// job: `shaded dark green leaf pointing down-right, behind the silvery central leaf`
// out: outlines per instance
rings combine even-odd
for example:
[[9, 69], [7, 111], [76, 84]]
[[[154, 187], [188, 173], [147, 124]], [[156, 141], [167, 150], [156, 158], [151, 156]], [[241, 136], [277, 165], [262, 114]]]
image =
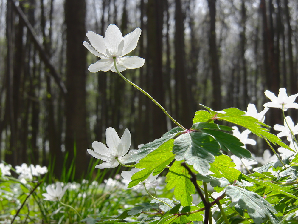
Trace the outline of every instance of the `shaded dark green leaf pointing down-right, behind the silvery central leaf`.
[[216, 130], [203, 129], [202, 131], [204, 133], [212, 135], [213, 138], [218, 141], [222, 150], [226, 152], [230, 151], [232, 154], [240, 158], [254, 161], [254, 157], [252, 157], [252, 154], [247, 149], [241, 147], [243, 146], [243, 143], [240, 142], [240, 140], [232, 134]]

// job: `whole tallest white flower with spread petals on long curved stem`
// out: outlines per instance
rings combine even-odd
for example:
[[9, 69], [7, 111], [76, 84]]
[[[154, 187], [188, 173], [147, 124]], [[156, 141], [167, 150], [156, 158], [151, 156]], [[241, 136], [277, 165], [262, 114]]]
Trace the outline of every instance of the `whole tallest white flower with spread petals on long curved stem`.
[[134, 69], [142, 67], [145, 63], [145, 59], [137, 56], [125, 56], [136, 48], [139, 41], [142, 30], [136, 28], [133, 32], [122, 37], [122, 33], [116, 25], [109, 25], [105, 31], [105, 37], [96, 34], [92, 31], [88, 31], [86, 36], [88, 37], [91, 45], [84, 41], [83, 45], [95, 56], [100, 57], [94, 64], [91, 64], [88, 68], [90, 72], [111, 70], [117, 72], [114, 66], [114, 59], [116, 57], [117, 68], [119, 72], [126, 69]]

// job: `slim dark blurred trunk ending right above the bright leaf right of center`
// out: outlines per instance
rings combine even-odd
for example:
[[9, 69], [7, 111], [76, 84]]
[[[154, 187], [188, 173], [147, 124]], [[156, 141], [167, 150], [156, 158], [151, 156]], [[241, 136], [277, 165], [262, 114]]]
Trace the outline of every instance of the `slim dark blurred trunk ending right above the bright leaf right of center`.
[[218, 49], [216, 45], [216, 0], [207, 0], [210, 17], [209, 53], [212, 71], [212, 109], [221, 110], [221, 75], [219, 69]]

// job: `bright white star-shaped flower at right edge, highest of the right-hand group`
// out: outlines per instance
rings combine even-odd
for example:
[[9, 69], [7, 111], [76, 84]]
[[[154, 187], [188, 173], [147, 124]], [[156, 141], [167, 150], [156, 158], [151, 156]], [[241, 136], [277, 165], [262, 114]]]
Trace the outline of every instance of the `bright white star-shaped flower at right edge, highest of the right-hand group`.
[[288, 97], [286, 89], [280, 88], [277, 97], [274, 95], [274, 93], [271, 93], [268, 90], [265, 91], [265, 96], [267, 96], [272, 102], [265, 103], [263, 105], [264, 107], [275, 107], [283, 109], [284, 111], [288, 110], [288, 108], [298, 109], [298, 104], [294, 103], [298, 93]]

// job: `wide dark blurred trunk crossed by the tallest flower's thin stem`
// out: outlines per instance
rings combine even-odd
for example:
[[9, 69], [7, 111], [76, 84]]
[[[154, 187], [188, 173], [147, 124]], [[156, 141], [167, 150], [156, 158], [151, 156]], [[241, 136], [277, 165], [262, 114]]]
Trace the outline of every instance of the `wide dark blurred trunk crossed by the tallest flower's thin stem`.
[[[147, 70], [152, 84], [149, 93], [165, 106], [164, 78], [162, 75], [162, 26], [163, 26], [163, 4], [159, 0], [148, 0], [147, 3], [147, 46], [148, 60]], [[166, 115], [155, 104], [150, 102], [152, 108], [152, 130], [153, 139], [161, 137], [167, 131]], [[148, 108], [146, 108], [148, 110]]]

